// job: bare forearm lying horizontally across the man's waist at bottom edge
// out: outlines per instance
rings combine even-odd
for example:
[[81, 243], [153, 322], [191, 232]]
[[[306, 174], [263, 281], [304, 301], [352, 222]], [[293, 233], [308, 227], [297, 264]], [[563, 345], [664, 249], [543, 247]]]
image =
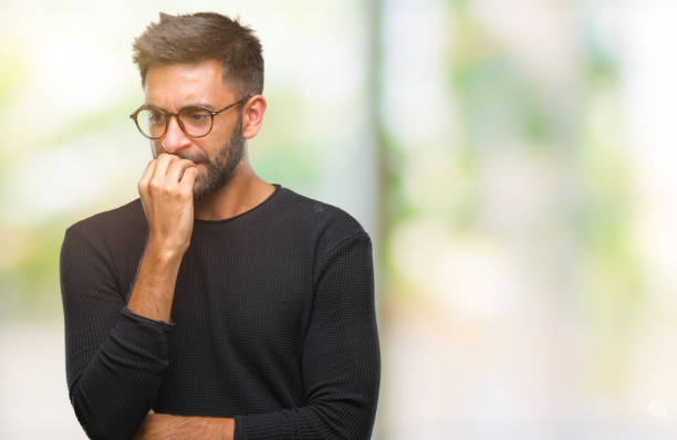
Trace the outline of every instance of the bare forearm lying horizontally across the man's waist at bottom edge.
[[149, 413], [134, 440], [232, 440], [235, 420]]

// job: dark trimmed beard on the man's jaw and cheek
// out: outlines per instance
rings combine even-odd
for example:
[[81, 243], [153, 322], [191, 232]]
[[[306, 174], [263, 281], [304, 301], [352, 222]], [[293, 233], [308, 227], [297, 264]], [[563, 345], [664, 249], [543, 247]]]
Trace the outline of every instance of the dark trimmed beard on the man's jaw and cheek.
[[195, 180], [195, 187], [192, 188], [192, 200], [199, 201], [216, 193], [221, 189], [235, 175], [242, 160], [244, 153], [244, 138], [242, 137], [242, 115], [238, 116], [238, 123], [236, 124], [230, 139], [226, 143], [217, 154], [217, 156], [209, 160], [208, 158], [195, 160], [189, 157], [184, 157], [180, 154], [177, 155], [183, 159], [189, 159], [197, 164], [202, 164], [207, 168], [206, 175], [198, 175]]

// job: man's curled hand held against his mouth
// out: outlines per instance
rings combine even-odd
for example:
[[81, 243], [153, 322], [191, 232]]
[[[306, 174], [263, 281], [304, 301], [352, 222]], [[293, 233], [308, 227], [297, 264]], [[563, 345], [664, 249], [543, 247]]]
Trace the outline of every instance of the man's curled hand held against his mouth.
[[148, 163], [138, 193], [148, 221], [148, 242], [157, 249], [184, 253], [192, 233], [195, 163], [160, 154]]

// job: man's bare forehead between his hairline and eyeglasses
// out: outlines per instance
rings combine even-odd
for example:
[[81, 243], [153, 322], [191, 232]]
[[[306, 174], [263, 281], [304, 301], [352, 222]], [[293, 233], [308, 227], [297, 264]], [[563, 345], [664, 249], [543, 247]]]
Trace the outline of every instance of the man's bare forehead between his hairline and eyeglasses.
[[144, 85], [146, 103], [168, 109], [200, 102], [220, 105], [235, 96], [222, 72], [222, 64], [216, 60], [150, 67]]

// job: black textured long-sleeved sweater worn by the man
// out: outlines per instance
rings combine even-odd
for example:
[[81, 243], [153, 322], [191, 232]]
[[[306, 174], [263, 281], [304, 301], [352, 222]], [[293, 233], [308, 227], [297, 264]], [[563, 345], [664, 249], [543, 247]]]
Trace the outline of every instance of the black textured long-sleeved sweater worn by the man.
[[139, 199], [65, 232], [66, 379], [96, 439], [149, 409], [233, 417], [236, 440], [366, 439], [379, 384], [372, 247], [351, 216], [275, 185], [196, 220], [171, 323], [126, 307], [148, 234]]

